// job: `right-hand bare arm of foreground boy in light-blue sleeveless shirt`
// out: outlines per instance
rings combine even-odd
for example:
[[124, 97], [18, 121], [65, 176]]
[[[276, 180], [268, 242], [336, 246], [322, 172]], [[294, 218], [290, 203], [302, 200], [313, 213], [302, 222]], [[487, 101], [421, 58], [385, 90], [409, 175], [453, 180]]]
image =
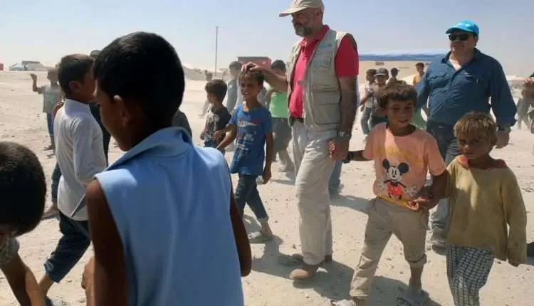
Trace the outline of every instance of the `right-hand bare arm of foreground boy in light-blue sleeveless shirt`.
[[234, 200], [234, 190], [230, 187], [230, 219], [234, 229], [234, 239], [236, 240], [237, 253], [239, 255], [239, 266], [241, 267], [241, 276], [251, 273], [252, 253], [251, 245], [246, 235], [246, 229], [241, 216], [237, 211], [236, 201]]

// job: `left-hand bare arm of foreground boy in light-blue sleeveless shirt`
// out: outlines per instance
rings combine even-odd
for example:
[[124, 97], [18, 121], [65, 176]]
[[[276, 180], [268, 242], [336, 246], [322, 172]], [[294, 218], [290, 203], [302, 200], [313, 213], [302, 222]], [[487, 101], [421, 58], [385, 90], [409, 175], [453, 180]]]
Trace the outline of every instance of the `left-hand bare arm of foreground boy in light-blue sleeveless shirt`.
[[88, 185], [85, 199], [89, 233], [95, 251], [94, 301], [91, 302], [98, 306], [126, 306], [126, 269], [122, 241], [98, 181], [92, 181]]

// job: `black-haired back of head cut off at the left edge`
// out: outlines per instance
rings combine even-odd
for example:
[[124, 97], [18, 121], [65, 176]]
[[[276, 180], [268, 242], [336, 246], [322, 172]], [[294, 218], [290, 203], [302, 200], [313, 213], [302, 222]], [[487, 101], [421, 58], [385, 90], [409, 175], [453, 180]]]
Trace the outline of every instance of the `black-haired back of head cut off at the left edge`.
[[0, 142], [0, 224], [15, 236], [36, 228], [46, 201], [46, 179], [36, 154], [15, 142]]

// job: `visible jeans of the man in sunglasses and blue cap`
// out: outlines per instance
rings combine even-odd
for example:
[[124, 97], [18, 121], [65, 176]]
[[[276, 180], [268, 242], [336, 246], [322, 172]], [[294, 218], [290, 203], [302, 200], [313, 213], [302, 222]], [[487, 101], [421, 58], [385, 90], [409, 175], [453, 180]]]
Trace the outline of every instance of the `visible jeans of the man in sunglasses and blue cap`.
[[[426, 132], [429, 132], [434, 136], [436, 142], [438, 142], [439, 153], [445, 160], [445, 164], [450, 164], [460, 155], [458, 141], [456, 140], [456, 137], [454, 137], [453, 125], [429, 121], [426, 123]], [[433, 229], [437, 228], [438, 231], [443, 231], [446, 226], [448, 215], [449, 199], [443, 199], [439, 201], [436, 211], [431, 215], [431, 227]]]

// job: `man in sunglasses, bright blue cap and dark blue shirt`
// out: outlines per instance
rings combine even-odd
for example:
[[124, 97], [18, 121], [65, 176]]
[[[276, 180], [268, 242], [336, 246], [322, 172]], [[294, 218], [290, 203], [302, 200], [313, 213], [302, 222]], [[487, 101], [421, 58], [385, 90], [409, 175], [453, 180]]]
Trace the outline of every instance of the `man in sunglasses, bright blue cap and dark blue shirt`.
[[[476, 48], [479, 30], [473, 21], [460, 21], [446, 31], [451, 51], [429, 65], [416, 86], [417, 107], [428, 101], [426, 130], [437, 142], [446, 164], [458, 156], [453, 127], [467, 112], [490, 112], [498, 125], [497, 148], [505, 147], [515, 124], [515, 102], [503, 68], [495, 58]], [[444, 247], [443, 231], [449, 202], [440, 201], [431, 216], [431, 243]]]

